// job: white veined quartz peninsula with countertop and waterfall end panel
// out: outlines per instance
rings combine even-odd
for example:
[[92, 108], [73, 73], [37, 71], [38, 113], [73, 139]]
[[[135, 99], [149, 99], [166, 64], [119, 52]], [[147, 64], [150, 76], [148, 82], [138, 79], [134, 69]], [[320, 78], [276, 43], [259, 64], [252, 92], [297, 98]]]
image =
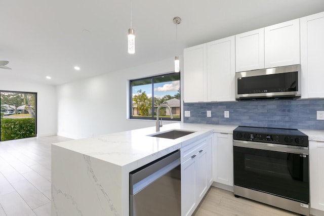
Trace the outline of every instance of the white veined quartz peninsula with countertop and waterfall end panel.
[[155, 127], [52, 145], [52, 215], [129, 215], [129, 172], [235, 126], [173, 123], [161, 132], [195, 133], [172, 140], [150, 137]]

